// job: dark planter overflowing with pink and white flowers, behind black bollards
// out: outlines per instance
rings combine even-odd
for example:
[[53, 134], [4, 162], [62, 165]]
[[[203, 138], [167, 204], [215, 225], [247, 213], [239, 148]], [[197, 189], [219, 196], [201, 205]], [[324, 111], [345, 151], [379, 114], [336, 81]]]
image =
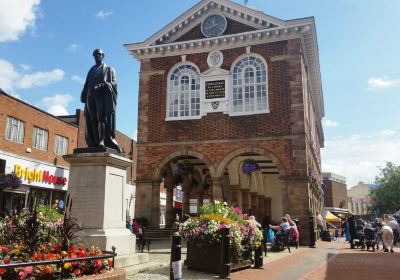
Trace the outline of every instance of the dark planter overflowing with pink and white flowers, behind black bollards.
[[257, 225], [244, 219], [239, 208], [215, 202], [200, 208], [200, 216], [180, 225], [183, 239], [188, 241], [188, 268], [218, 272], [221, 265], [221, 229], [230, 229], [231, 268], [250, 265], [251, 250], [261, 246], [263, 235]]

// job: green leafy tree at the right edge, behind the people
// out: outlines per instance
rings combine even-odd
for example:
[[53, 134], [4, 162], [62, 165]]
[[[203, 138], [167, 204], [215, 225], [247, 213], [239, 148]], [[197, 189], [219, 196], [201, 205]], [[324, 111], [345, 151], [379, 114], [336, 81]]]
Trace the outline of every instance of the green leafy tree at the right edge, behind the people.
[[378, 213], [393, 213], [400, 209], [400, 166], [387, 162], [375, 178], [378, 187], [372, 189], [371, 210]]

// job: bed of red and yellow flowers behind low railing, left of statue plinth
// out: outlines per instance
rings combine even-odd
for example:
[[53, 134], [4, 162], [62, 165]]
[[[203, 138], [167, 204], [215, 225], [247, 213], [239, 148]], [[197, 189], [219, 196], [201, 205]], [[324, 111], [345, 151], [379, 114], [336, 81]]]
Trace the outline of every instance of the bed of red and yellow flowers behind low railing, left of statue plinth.
[[52, 222], [36, 210], [0, 220], [0, 279], [68, 279], [112, 271], [114, 254], [76, 245], [78, 230], [73, 218]]

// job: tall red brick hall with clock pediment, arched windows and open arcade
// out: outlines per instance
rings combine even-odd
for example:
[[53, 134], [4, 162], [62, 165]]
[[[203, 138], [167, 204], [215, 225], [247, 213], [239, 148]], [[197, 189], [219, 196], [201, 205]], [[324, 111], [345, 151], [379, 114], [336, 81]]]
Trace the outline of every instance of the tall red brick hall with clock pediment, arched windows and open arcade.
[[[259, 221], [322, 210], [323, 94], [314, 18], [203, 0], [142, 43], [136, 214], [159, 223], [160, 183], [183, 212], [212, 200]], [[260, 170], [243, 174], [247, 160]], [[182, 170], [184, 172], [182, 172]], [[197, 203], [196, 203], [197, 202]], [[303, 231], [303, 241], [309, 232]]]

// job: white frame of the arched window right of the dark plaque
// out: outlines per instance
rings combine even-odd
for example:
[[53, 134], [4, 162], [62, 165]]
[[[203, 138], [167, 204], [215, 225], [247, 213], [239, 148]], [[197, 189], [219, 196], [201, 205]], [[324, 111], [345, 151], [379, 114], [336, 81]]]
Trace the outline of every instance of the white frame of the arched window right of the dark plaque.
[[[249, 63], [249, 58], [254, 58], [255, 63]], [[246, 61], [247, 59], [247, 61]], [[247, 70], [252, 70], [254, 77], [253, 81], [249, 81], [244, 84], [248, 79], [245, 75]], [[239, 71], [240, 70], [240, 71]], [[231, 66], [232, 81], [231, 81], [231, 94], [230, 94], [230, 113], [231, 116], [242, 116], [242, 115], [255, 115], [269, 113], [269, 98], [268, 98], [268, 64], [265, 59], [255, 53], [246, 53], [239, 56]], [[236, 75], [236, 78], [235, 78]], [[257, 77], [260, 77], [260, 81], [257, 81]], [[240, 79], [239, 79], [240, 78]], [[239, 84], [240, 83], [240, 84]], [[247, 98], [246, 102], [246, 91], [253, 89], [253, 96]], [[241, 98], [235, 96], [241, 95]], [[260, 96], [261, 95], [261, 96]], [[265, 99], [265, 107], [257, 109], [259, 99]], [[236, 101], [241, 101], [242, 109], [238, 111], [235, 105]], [[252, 106], [246, 108], [246, 106]], [[247, 109], [247, 110], [246, 110]]]

